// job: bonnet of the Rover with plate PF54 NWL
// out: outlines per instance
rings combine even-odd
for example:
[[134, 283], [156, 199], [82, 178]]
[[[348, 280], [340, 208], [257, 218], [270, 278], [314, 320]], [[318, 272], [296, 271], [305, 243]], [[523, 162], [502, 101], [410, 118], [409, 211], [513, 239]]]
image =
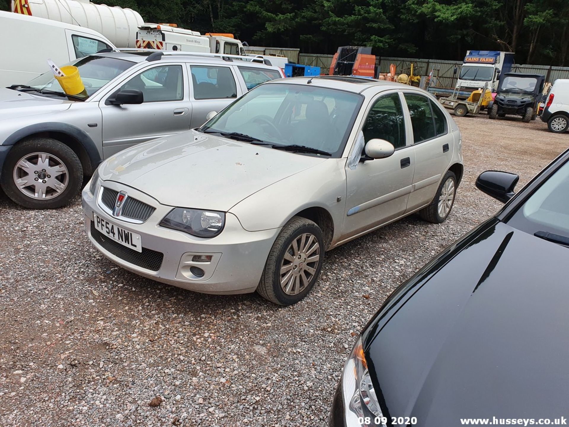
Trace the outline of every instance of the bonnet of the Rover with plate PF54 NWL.
[[168, 206], [228, 211], [254, 192], [324, 161], [192, 130], [121, 151], [99, 173]]

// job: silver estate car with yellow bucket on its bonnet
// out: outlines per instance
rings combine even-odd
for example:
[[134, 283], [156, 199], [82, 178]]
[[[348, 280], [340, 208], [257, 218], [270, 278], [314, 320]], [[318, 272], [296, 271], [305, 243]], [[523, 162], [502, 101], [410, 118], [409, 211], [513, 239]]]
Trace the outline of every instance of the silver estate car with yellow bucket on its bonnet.
[[250, 58], [191, 52], [119, 50], [71, 64], [85, 85], [77, 96], [51, 71], [0, 88], [0, 184], [27, 208], [64, 206], [101, 159], [201, 126], [211, 110], [284, 77]]

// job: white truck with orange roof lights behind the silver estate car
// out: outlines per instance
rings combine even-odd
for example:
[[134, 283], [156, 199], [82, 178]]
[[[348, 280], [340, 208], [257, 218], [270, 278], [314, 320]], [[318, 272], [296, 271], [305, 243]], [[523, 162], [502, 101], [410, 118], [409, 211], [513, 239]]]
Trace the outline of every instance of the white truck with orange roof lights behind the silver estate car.
[[244, 55], [240, 40], [233, 34], [207, 33], [178, 28], [176, 24], [144, 23], [138, 27], [137, 48], [211, 54]]

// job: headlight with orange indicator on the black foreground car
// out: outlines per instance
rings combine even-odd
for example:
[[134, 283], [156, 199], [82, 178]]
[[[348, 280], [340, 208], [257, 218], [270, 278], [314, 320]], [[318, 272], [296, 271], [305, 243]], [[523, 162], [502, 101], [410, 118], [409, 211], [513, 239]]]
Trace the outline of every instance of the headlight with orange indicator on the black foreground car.
[[342, 375], [342, 393], [346, 425], [386, 426], [387, 418], [381, 412], [380, 403], [377, 400], [361, 338], [357, 340], [345, 364]]

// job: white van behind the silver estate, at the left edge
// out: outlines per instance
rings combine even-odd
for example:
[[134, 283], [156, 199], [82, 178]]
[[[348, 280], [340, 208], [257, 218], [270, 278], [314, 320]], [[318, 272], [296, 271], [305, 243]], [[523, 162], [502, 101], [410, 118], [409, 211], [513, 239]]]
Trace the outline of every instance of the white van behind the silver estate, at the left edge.
[[0, 40], [0, 87], [24, 84], [48, 71], [48, 58], [63, 65], [114, 48], [113, 43], [89, 28], [3, 11]]

